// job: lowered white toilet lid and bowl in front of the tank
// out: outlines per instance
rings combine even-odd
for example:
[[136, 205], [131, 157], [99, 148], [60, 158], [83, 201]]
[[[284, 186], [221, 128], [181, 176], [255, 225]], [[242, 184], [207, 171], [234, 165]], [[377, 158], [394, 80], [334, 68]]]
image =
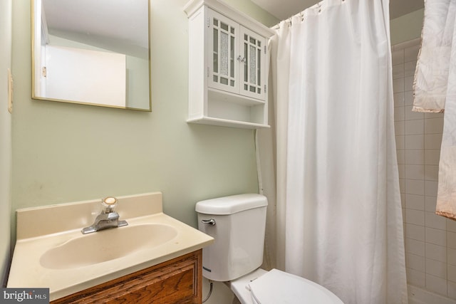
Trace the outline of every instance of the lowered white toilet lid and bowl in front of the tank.
[[[241, 285], [244, 286], [244, 290], [240, 289]], [[258, 269], [233, 281], [231, 288], [242, 303], [343, 304], [336, 295], [323, 286], [277, 269]]]

